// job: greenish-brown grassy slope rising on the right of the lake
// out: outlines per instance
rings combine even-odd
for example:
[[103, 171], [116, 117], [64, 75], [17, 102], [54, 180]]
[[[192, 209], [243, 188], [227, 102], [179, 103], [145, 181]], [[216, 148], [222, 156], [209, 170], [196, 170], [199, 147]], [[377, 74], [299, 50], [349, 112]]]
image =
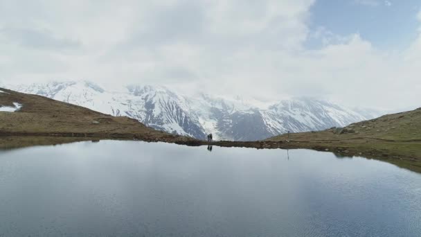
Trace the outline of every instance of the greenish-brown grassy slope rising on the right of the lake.
[[332, 150], [344, 155], [366, 155], [421, 160], [421, 108], [352, 123], [346, 128], [271, 137], [290, 146]]

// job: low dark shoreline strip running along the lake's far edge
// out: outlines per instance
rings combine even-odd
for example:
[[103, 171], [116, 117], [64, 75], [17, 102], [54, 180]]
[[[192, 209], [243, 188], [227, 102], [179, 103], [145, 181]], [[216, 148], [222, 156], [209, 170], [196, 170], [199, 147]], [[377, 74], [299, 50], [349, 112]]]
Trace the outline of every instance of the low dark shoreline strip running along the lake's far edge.
[[[348, 143], [341, 141], [201, 141], [197, 139], [186, 139], [182, 136], [147, 137], [143, 134], [98, 134], [98, 133], [0, 133], [0, 149], [13, 149], [28, 146], [46, 146], [62, 143], [72, 143], [77, 141], [100, 141], [100, 140], [120, 140], [120, 141], [145, 141], [174, 143], [183, 146], [218, 146], [222, 148], [255, 148], [255, 149], [309, 149], [320, 152], [332, 152], [337, 157], [366, 157], [387, 161], [402, 168], [407, 168], [421, 173], [421, 159], [405, 152], [400, 153], [396, 148], [407, 145], [419, 146], [420, 142], [399, 142], [382, 141], [375, 139], [352, 139]], [[393, 145], [393, 146], [392, 146]], [[382, 148], [376, 148], [382, 147]], [[383, 149], [389, 147], [391, 149]]]

